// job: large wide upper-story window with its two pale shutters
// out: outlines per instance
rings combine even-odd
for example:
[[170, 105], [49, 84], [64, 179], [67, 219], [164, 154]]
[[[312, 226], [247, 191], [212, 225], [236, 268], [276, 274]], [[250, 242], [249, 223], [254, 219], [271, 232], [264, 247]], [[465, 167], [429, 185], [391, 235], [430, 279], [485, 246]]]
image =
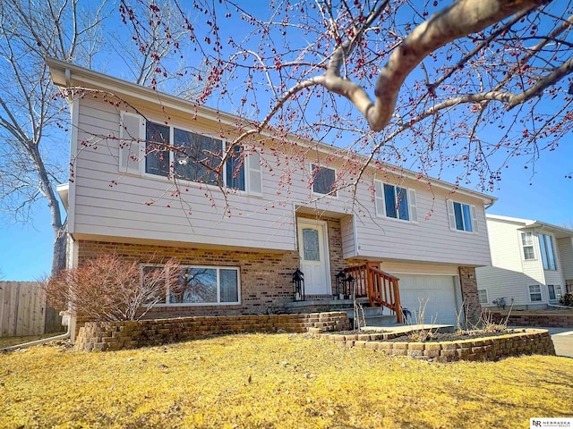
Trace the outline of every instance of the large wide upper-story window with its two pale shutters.
[[262, 195], [261, 157], [255, 151], [233, 147], [218, 174], [226, 153], [224, 140], [147, 122], [139, 114], [122, 112], [121, 117], [120, 172], [172, 176]]

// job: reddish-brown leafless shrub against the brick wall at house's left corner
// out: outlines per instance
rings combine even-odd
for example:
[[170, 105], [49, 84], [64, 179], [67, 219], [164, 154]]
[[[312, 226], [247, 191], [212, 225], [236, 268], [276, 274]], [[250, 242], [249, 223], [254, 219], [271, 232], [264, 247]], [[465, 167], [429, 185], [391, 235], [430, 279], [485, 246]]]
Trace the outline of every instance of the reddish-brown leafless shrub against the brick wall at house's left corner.
[[52, 307], [100, 322], [139, 320], [165, 299], [167, 286], [176, 288], [179, 271], [174, 259], [142, 272], [137, 262], [107, 255], [63, 270], [40, 285]]

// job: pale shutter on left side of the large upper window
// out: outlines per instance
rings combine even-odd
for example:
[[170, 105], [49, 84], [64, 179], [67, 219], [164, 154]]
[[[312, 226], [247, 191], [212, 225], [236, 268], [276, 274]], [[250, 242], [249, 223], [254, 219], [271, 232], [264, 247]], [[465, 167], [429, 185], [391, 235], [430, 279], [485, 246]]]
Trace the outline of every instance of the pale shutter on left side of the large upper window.
[[140, 161], [144, 154], [145, 122], [141, 115], [122, 112], [119, 128], [119, 171], [140, 174]]

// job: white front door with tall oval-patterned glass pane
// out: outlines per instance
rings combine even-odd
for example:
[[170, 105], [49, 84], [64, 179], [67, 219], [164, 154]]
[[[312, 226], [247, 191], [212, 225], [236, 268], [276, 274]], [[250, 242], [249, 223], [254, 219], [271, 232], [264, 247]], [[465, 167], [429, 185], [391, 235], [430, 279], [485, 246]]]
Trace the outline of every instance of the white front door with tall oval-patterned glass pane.
[[322, 221], [298, 221], [298, 249], [306, 295], [332, 294], [327, 227]]

